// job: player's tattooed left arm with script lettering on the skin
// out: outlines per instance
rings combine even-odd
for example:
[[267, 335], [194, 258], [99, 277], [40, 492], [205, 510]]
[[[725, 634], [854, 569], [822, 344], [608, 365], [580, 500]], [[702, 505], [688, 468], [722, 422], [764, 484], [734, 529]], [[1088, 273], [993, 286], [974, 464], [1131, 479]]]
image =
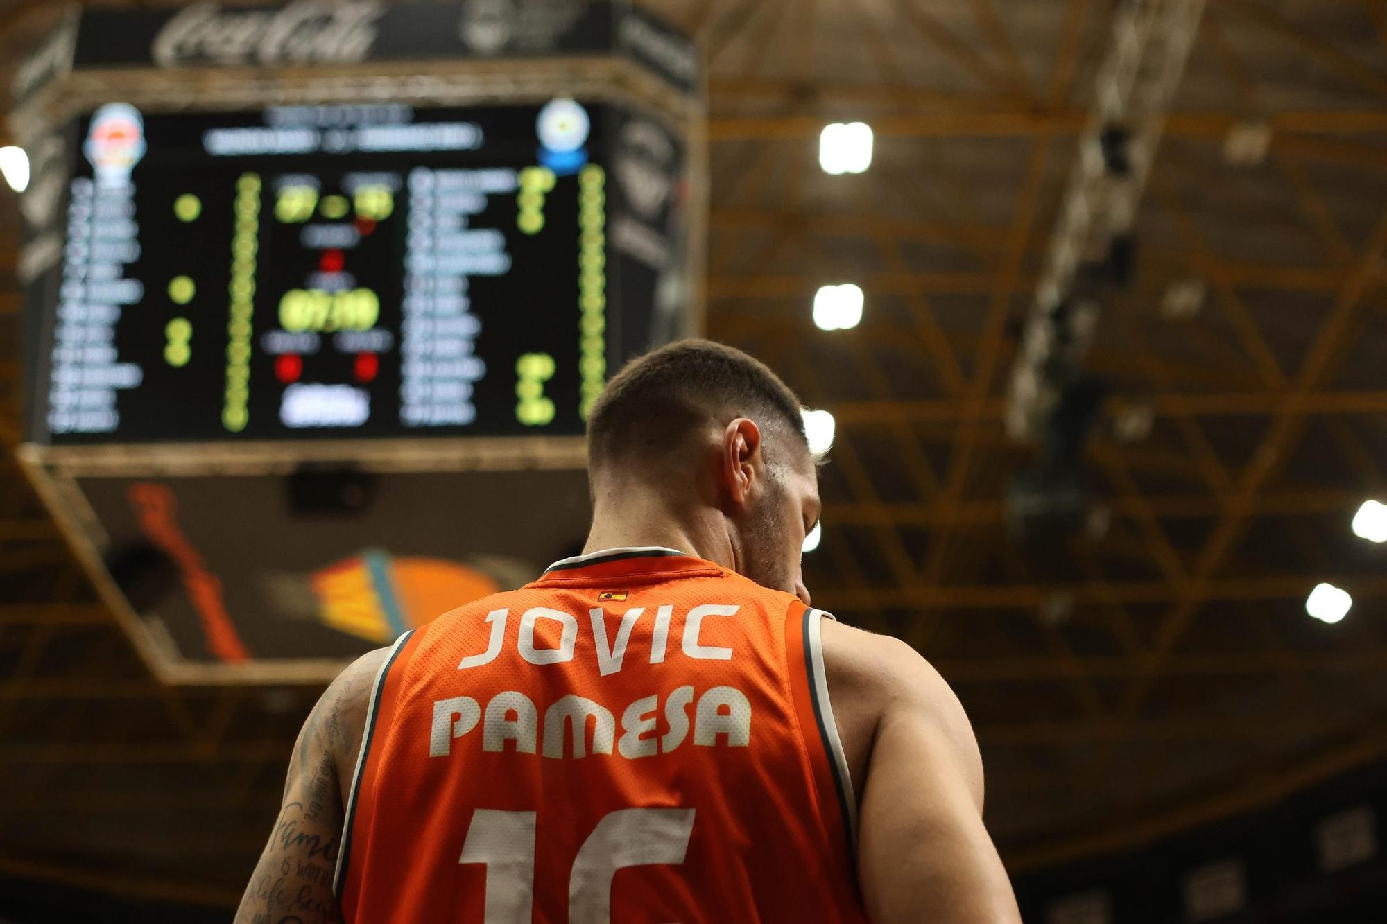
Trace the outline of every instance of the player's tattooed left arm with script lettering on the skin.
[[359, 658], [308, 713], [288, 759], [284, 801], [251, 875], [236, 924], [341, 921], [333, 870], [347, 788], [361, 749], [370, 687], [386, 649]]

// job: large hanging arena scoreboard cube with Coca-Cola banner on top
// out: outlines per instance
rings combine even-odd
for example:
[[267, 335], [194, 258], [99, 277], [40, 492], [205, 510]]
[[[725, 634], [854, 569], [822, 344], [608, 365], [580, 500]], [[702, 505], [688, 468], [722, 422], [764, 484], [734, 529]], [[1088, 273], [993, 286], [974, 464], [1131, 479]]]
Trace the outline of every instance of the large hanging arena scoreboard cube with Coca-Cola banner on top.
[[699, 61], [628, 3], [87, 10], [12, 90], [21, 458], [165, 680], [570, 552], [608, 373], [700, 327]]

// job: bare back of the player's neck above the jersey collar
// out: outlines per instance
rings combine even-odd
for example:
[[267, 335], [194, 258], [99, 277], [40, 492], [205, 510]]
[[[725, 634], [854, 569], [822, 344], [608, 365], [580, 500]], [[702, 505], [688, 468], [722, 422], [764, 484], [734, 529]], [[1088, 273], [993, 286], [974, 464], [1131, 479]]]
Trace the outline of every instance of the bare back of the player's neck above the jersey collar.
[[653, 545], [735, 567], [732, 544], [717, 511], [680, 509], [639, 487], [598, 498], [584, 555]]

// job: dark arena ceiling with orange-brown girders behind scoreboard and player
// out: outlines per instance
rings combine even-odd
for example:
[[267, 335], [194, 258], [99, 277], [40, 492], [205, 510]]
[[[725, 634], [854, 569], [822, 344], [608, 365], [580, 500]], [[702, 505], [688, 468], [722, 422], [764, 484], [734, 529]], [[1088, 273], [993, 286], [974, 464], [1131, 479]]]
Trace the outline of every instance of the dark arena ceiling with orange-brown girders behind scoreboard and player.
[[[1006, 383], [1115, 4], [652, 6], [710, 67], [709, 334], [836, 416], [816, 604], [954, 685], [1013, 867], [1387, 753], [1384, 549], [1348, 531], [1387, 493], [1387, 4], [1209, 0], [1133, 277], [1099, 293], [1090, 513], [1039, 541], [1008, 530], [1035, 450]], [[54, 7], [0, 3], [0, 61]], [[856, 119], [871, 169], [824, 175], [818, 130]], [[7, 193], [0, 874], [230, 902], [318, 691], [161, 687], [94, 602], [14, 463], [17, 241]], [[820, 332], [841, 282], [863, 323]], [[1336, 626], [1304, 612], [1323, 580], [1355, 599]]]

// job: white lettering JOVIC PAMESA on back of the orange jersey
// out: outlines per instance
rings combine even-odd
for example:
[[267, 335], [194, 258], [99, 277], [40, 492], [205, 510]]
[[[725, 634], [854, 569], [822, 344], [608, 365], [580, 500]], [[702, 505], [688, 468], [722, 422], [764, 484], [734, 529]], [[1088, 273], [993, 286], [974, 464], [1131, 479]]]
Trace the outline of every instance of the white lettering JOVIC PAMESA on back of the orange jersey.
[[[588, 623], [592, 628], [594, 647], [596, 648], [596, 667], [603, 677], [621, 670], [621, 666], [626, 663], [626, 649], [631, 641], [631, 633], [645, 615], [645, 606], [632, 606], [626, 610], [616, 637], [610, 641], [602, 608], [598, 606], [588, 610]], [[691, 608], [684, 619], [681, 644], [684, 656], [705, 660], [731, 660], [731, 648], [705, 645], [699, 641], [699, 635], [703, 620], [709, 617], [735, 616], [736, 610], [738, 606], [735, 605], [721, 604], [705, 604]], [[655, 619], [651, 628], [651, 665], [664, 662], [673, 615], [673, 605], [655, 608]], [[458, 665], [458, 670], [490, 665], [501, 655], [501, 649], [506, 641], [509, 616], [509, 609], [494, 609], [487, 615], [485, 622], [491, 624], [487, 649], [481, 653], [463, 658]], [[556, 648], [535, 648], [535, 624], [540, 620], [560, 624], [562, 631]], [[533, 606], [520, 616], [516, 653], [531, 665], [570, 662], [573, 660], [577, 635], [578, 619], [573, 613], [546, 606]], [[695, 699], [698, 702], [694, 708], [691, 723], [688, 706]], [[728, 746], [745, 748], [750, 742], [752, 705], [742, 691], [735, 687], [712, 687], [702, 694], [696, 694], [692, 685], [678, 687], [664, 699], [663, 712], [669, 731], [663, 735], [656, 735], [657, 716], [660, 713], [659, 696], [651, 695], [637, 699], [621, 710], [621, 728], [620, 735], [617, 735], [614, 713], [606, 706], [584, 696], [570, 694], [549, 703], [544, 709], [542, 723], [540, 720], [540, 709], [523, 692], [513, 690], [499, 692], [487, 702], [485, 708], [472, 696], [454, 696], [434, 702], [429, 753], [434, 758], [451, 755], [452, 742], [472, 733], [479, 723], [481, 724], [483, 751], [501, 752], [505, 749], [506, 741], [513, 741], [516, 752], [538, 752], [545, 758], [588, 756], [587, 728], [589, 720], [595, 720], [591, 753], [610, 755], [614, 748], [617, 753], [627, 759], [669, 753], [684, 744], [689, 737], [691, 728], [695, 745], [713, 746], [718, 744], [720, 738]], [[570, 728], [573, 745], [571, 748], [566, 748], [566, 738], [569, 738]]]

